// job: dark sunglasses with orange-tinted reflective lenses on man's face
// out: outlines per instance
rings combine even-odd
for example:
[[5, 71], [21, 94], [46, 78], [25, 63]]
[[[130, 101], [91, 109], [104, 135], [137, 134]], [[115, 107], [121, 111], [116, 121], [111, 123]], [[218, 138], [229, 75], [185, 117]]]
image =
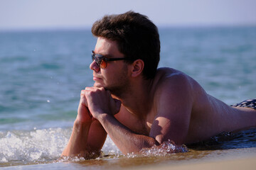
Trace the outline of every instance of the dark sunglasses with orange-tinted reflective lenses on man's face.
[[107, 62], [118, 61], [118, 60], [130, 60], [129, 58], [107, 58], [104, 55], [95, 54], [92, 51], [92, 61], [95, 61], [97, 66], [101, 69], [105, 69], [107, 67]]

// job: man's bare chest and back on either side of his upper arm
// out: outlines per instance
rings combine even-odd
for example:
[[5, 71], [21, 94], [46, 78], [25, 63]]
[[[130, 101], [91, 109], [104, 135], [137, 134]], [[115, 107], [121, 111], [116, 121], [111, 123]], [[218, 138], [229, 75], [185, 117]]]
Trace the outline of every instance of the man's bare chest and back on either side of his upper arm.
[[[154, 81], [154, 91], [157, 91], [157, 88], [161, 88], [160, 84], [162, 84], [165, 79], [171, 79], [171, 77], [179, 74], [181, 75], [183, 73], [175, 69], [159, 69], [156, 74], [156, 81]], [[251, 122], [247, 124], [247, 119], [241, 119], [240, 117], [241, 114], [248, 113], [248, 119], [250, 119], [250, 117], [255, 118], [255, 116], [252, 116], [252, 112], [255, 112], [256, 115], [256, 111], [247, 108], [232, 108], [213, 96], [206, 94], [206, 91], [204, 91], [195, 80], [187, 75], [186, 77], [191, 84], [193, 94], [193, 100], [191, 101], [193, 107], [191, 109], [189, 128], [186, 139], [184, 140], [186, 143], [207, 140], [209, 137], [218, 135], [223, 131], [239, 130], [245, 128], [246, 125], [253, 125], [254, 120], [251, 120]], [[154, 94], [154, 96], [156, 95], [158, 94]], [[186, 98], [186, 96], [183, 97]], [[188, 103], [184, 103], [184, 105], [186, 104]], [[120, 123], [127, 126], [127, 128], [133, 132], [149, 136], [151, 125], [157, 115], [157, 107], [158, 106], [153, 104], [149, 112], [146, 113], [146, 118], [138, 118], [136, 115], [129, 113], [129, 111], [122, 106], [119, 114], [115, 117]]]

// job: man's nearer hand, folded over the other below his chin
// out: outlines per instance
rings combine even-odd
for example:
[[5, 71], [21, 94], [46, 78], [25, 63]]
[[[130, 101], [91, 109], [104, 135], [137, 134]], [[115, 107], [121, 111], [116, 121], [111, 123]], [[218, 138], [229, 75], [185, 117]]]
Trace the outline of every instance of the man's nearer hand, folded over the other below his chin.
[[94, 118], [98, 118], [102, 113], [114, 115], [119, 113], [121, 101], [112, 98], [110, 91], [103, 87], [86, 87], [85, 97], [87, 107]]

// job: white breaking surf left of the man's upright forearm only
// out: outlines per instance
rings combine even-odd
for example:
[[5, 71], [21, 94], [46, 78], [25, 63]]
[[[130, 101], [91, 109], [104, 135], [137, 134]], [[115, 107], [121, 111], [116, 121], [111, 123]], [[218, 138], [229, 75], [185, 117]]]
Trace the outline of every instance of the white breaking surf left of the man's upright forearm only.
[[56, 159], [68, 142], [68, 136], [70, 129], [62, 128], [1, 132], [0, 164], [35, 164]]

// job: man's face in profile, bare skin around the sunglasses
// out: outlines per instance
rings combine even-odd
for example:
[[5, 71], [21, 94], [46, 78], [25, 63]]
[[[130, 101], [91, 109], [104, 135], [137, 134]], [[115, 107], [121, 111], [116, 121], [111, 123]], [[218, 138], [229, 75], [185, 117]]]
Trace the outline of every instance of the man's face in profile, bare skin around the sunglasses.
[[[124, 55], [119, 52], [117, 42], [106, 38], [97, 38], [95, 54], [103, 55], [107, 58], [123, 58]], [[107, 67], [101, 69], [95, 61], [90, 64], [93, 70], [94, 86], [105, 87], [112, 94], [119, 95], [129, 84], [128, 64], [124, 60], [107, 62]]]

